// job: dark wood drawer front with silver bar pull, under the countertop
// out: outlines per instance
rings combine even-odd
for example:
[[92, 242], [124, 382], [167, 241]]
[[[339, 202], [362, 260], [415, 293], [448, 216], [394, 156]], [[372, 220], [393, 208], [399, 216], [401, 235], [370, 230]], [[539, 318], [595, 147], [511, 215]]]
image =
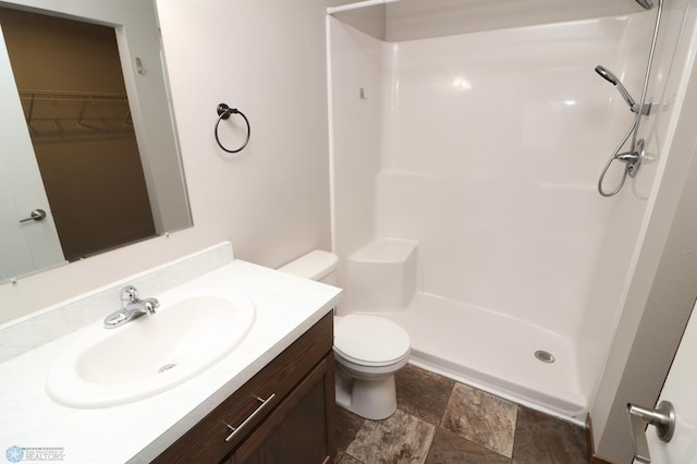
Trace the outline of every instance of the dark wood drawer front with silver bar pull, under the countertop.
[[[222, 461], [331, 351], [332, 329], [333, 316], [329, 313], [154, 462]], [[231, 439], [228, 425], [237, 429]]]

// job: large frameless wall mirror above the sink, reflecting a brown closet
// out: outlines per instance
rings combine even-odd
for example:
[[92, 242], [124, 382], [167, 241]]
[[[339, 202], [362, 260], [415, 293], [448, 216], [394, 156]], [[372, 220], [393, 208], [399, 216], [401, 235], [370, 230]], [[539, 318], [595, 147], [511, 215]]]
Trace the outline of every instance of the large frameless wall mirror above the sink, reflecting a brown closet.
[[192, 225], [154, 1], [0, 1], [0, 282]]

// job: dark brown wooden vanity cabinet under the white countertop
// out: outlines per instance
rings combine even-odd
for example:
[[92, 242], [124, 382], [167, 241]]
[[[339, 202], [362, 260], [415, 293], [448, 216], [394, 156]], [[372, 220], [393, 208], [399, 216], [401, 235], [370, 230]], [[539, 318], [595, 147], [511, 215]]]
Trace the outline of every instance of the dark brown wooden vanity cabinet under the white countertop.
[[332, 462], [337, 454], [332, 343], [329, 313], [154, 462]]

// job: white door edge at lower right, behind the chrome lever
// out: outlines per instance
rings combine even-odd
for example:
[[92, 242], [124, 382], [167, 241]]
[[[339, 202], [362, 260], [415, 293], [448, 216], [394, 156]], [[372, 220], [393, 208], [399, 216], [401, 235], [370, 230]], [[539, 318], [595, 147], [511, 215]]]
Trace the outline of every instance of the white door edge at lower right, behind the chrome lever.
[[[696, 305], [697, 307], [697, 305]], [[652, 426], [646, 430], [651, 463], [697, 464], [697, 310], [687, 322], [677, 354], [658, 401], [675, 407], [675, 429], [670, 442], [659, 440]], [[634, 461], [639, 463], [638, 460]]]

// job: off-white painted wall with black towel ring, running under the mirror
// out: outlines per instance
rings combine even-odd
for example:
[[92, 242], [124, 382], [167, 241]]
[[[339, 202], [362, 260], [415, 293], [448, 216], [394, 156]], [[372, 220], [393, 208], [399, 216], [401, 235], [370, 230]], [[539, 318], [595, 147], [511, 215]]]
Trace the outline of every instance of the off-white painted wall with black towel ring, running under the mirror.
[[[1, 285], [3, 318], [223, 240], [271, 267], [329, 248], [323, 1], [167, 0], [158, 10], [194, 227]], [[234, 159], [212, 134], [223, 101], [252, 122]], [[235, 135], [230, 125], [223, 137]]]

